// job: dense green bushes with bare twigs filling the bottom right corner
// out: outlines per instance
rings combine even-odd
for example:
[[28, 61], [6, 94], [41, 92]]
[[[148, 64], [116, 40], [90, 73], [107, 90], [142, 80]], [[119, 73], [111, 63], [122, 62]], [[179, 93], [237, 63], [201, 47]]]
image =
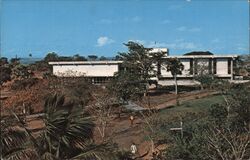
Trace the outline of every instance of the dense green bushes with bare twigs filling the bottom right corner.
[[[249, 159], [249, 95], [248, 90], [231, 90], [225, 103], [211, 106], [208, 116], [186, 121], [184, 137], [174, 136], [172, 146], [166, 149], [165, 157], [168, 159]], [[228, 110], [228, 108], [231, 109]]]

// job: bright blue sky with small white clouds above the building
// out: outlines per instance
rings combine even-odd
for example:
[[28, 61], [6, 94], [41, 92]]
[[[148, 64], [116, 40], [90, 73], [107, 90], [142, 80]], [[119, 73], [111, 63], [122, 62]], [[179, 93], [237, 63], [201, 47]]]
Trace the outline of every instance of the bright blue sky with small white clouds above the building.
[[248, 0], [0, 0], [1, 56], [115, 56], [124, 43], [249, 54]]

